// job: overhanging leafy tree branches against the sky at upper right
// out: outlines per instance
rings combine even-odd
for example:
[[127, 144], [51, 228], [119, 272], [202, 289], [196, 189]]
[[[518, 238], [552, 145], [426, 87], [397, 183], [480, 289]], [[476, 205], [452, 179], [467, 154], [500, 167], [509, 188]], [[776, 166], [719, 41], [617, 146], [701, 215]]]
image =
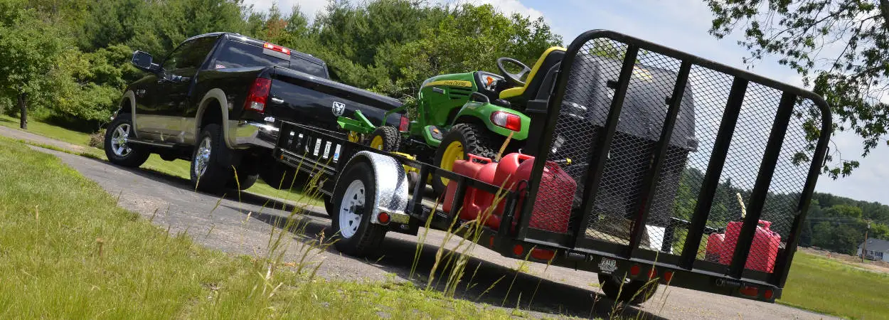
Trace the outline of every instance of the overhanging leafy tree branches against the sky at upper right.
[[[739, 32], [750, 63], [767, 55], [803, 76], [806, 86], [824, 96], [833, 128], [864, 139], [864, 152], [877, 148], [889, 133], [889, 0], [706, 0], [715, 14], [710, 34]], [[813, 120], [805, 128], [817, 133]], [[810, 134], [810, 136], [817, 136]], [[858, 162], [839, 159], [824, 172], [837, 179]]]

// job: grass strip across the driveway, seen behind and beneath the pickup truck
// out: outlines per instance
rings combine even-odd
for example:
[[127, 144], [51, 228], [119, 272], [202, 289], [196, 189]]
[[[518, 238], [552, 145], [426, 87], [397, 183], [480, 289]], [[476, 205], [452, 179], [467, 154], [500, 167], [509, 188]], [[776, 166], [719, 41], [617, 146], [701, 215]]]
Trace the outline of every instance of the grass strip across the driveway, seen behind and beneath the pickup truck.
[[[19, 128], [19, 119], [11, 117], [11, 116], [0, 115], [0, 125], [18, 129]], [[36, 134], [42, 135], [47, 138], [61, 140], [61, 141], [65, 141], [65, 142], [68, 142], [73, 145], [84, 147], [85, 148], [84, 152], [87, 155], [81, 154], [80, 156], [90, 156], [90, 157], [98, 158], [101, 160], [107, 160], [107, 158], [105, 157], [104, 151], [102, 151], [101, 149], [98, 149], [98, 148], [89, 147], [88, 142], [90, 140], [90, 136], [87, 133], [69, 130], [69, 129], [66, 129], [66, 128], [63, 128], [63, 127], [60, 127], [57, 125], [46, 124], [46, 123], [43, 123], [43, 122], [40, 122], [40, 121], [34, 120], [34, 119], [32, 119], [28, 122], [28, 132], [36, 133]], [[51, 147], [51, 146], [30, 143], [30, 142], [26, 142], [26, 143], [37, 145], [38, 147], [44, 147], [44, 148]], [[68, 152], [68, 150], [64, 150], [61, 148], [54, 148], [54, 147], [51, 147], [51, 148], [54, 150], [58, 150], [58, 151]], [[190, 179], [190, 176], [188, 173], [188, 170], [190, 170], [190, 165], [191, 164], [189, 164], [188, 161], [185, 161], [185, 160], [166, 161], [164, 159], [161, 159], [160, 156], [151, 155], [150, 157], [148, 157], [148, 161], [146, 161], [145, 164], [142, 164], [141, 167], [188, 180], [188, 179]], [[278, 190], [276, 188], [269, 187], [268, 184], [266, 184], [262, 180], [260, 180], [260, 181], [257, 181], [256, 184], [254, 184], [251, 188], [248, 188], [246, 191], [260, 195], [260, 196], [272, 196], [272, 197], [287, 199], [287, 200], [300, 199], [300, 201], [308, 202], [308, 204], [313, 204], [316, 206], [323, 206], [324, 205], [323, 202], [321, 202], [317, 199], [313, 199], [308, 196], [303, 196], [303, 193], [301, 192], [301, 186], [300, 187], [294, 186], [293, 190], [291, 190], [291, 191]]]

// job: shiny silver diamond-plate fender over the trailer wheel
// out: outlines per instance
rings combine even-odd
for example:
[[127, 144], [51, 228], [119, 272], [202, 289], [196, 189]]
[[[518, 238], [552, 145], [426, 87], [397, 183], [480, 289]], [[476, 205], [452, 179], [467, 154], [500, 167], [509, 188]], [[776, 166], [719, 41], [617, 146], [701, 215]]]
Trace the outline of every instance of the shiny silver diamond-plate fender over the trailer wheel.
[[[373, 170], [375, 195], [373, 196], [374, 204], [372, 205], [371, 223], [388, 224], [394, 222], [407, 224], [410, 221], [410, 216], [405, 213], [408, 202], [408, 183], [404, 166], [398, 163], [394, 157], [383, 156], [370, 151], [360, 151], [348, 160], [345, 167], [358, 162], [371, 164]], [[349, 182], [337, 179], [337, 185]], [[388, 223], [380, 223], [378, 219], [380, 212], [386, 212], [389, 215]]]

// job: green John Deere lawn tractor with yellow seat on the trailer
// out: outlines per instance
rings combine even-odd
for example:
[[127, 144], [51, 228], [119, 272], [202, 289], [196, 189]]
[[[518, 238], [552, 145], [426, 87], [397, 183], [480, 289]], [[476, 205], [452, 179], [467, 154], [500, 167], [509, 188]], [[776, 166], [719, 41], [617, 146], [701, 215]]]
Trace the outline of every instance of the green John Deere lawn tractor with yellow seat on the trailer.
[[[473, 71], [428, 78], [417, 95], [416, 116], [403, 118], [400, 128], [375, 126], [360, 112], [354, 118], [340, 116], [338, 122], [353, 141], [417, 155], [421, 162], [446, 170], [452, 170], [454, 161], [469, 153], [494, 158], [501, 151], [522, 148], [531, 122], [525, 108], [545, 87], [542, 84], [552, 81], [545, 79], [550, 74], [547, 71], [557, 68], [564, 56], [565, 48], [552, 47], [532, 68], [515, 59], [500, 58], [500, 75]], [[519, 71], [509, 72], [515, 69]], [[389, 114], [403, 113], [405, 108]], [[441, 177], [431, 177], [429, 182], [438, 195], [447, 185]]]

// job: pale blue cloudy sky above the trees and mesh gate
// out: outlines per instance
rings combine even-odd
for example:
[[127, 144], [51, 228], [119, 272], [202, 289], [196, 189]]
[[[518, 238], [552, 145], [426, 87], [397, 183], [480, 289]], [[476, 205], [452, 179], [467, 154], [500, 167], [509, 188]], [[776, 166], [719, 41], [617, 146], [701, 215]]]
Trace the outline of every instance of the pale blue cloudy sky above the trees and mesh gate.
[[[247, 0], [264, 10], [269, 1]], [[459, 3], [465, 0], [438, 0]], [[299, 3], [310, 16], [324, 8], [326, 0], [280, 0], [282, 8]], [[742, 62], [746, 52], [736, 44], [738, 37], [717, 40], [708, 33], [712, 19], [702, 0], [475, 0], [473, 4], [493, 4], [502, 12], [519, 12], [533, 18], [543, 17], [565, 43], [593, 28], [605, 28], [637, 36], [657, 44], [690, 52], [709, 60], [748, 68]], [[284, 9], [288, 12], [289, 9]], [[775, 80], [802, 86], [796, 73], [775, 63], [775, 58], [759, 61], [752, 72]], [[838, 150], [845, 159], [857, 159], [861, 167], [851, 177], [831, 180], [821, 176], [816, 190], [854, 199], [889, 204], [885, 181], [889, 180], [889, 148], [881, 144], [867, 158], [861, 158], [861, 139], [839, 133], [832, 137], [831, 152]]]

